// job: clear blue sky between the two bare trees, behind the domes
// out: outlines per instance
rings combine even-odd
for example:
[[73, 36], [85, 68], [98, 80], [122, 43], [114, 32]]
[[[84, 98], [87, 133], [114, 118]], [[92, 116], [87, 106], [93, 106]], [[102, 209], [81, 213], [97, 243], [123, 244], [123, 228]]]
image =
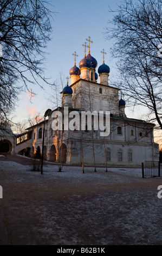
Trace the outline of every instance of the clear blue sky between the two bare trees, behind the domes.
[[[76, 66], [79, 66], [80, 60], [84, 57], [82, 44], [90, 36], [91, 40], [93, 40], [90, 54], [98, 61], [97, 70], [102, 64], [101, 51], [104, 48], [107, 52], [105, 63], [111, 69], [109, 78], [115, 76], [117, 72], [115, 61], [111, 58], [110, 54], [113, 42], [105, 39], [105, 27], [107, 27], [107, 21], [113, 17], [113, 14], [108, 11], [109, 7], [116, 9], [120, 1], [53, 0], [51, 4], [54, 5], [53, 9], [56, 13], [52, 24], [52, 39], [45, 50], [48, 52], [48, 55], [47, 61], [44, 63], [44, 68], [46, 68], [44, 75], [51, 77], [51, 80], [59, 84], [61, 73], [63, 84], [66, 86], [65, 78], [69, 76], [69, 70], [74, 66], [72, 54], [76, 51], [78, 55]], [[48, 98], [55, 97], [55, 92], [51, 91], [47, 84], [42, 83], [42, 86], [44, 90], [38, 86], [33, 88], [36, 96], [31, 101], [27, 92], [23, 92], [20, 95], [20, 100], [14, 112], [14, 121], [27, 119], [27, 116], [29, 114], [32, 116], [34, 112], [40, 112], [43, 115], [48, 108], [52, 107]]]

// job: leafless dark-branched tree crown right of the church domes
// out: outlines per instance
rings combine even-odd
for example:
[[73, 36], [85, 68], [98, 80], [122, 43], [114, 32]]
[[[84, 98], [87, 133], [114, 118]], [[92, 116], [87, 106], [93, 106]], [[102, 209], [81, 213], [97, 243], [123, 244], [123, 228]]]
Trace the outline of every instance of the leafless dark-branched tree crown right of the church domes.
[[124, 89], [127, 104], [147, 107], [150, 121], [162, 129], [162, 2], [124, 0], [113, 13], [106, 38], [114, 40], [112, 55], [118, 58], [115, 85]]

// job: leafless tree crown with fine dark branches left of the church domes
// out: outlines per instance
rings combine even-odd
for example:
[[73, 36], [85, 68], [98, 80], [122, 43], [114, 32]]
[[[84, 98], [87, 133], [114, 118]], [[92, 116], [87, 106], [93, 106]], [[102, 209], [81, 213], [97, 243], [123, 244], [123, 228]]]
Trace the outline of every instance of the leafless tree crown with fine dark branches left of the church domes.
[[[50, 83], [43, 75], [44, 48], [50, 40], [52, 12], [46, 0], [1, 0], [0, 115], [7, 118], [22, 88]], [[51, 6], [50, 6], [51, 7]], [[31, 86], [31, 88], [30, 88]]]

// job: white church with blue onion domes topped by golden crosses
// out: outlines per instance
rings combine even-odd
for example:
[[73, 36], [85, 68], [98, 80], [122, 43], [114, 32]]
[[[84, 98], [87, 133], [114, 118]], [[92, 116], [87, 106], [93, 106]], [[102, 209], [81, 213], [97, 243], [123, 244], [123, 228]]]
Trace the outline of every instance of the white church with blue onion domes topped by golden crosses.
[[[90, 43], [90, 38], [89, 38]], [[44, 159], [66, 164], [94, 164], [109, 166], [141, 166], [146, 160], [159, 161], [159, 145], [154, 143], [154, 124], [144, 120], [128, 118], [125, 114], [126, 102], [122, 99], [119, 88], [112, 87], [108, 82], [110, 68], [103, 63], [97, 68], [97, 61], [90, 55], [90, 46], [86, 56], [80, 60], [79, 67], [75, 63], [70, 69], [70, 84], [64, 87], [62, 105], [48, 111], [46, 120], [31, 126], [27, 132], [16, 136], [13, 154], [21, 150], [33, 156], [38, 147]], [[120, 95], [120, 96], [119, 96]], [[64, 109], [68, 108], [68, 122], [73, 123], [72, 129], [65, 129]], [[94, 129], [94, 118], [89, 129], [85, 122], [75, 122], [75, 113], [83, 111], [101, 112], [103, 120], [109, 112], [109, 135], [101, 136], [101, 131]], [[62, 113], [62, 130], [54, 130], [54, 120]], [[105, 120], [106, 121], [106, 120]], [[56, 123], [56, 122], [55, 122]], [[44, 129], [44, 136], [43, 136]]]

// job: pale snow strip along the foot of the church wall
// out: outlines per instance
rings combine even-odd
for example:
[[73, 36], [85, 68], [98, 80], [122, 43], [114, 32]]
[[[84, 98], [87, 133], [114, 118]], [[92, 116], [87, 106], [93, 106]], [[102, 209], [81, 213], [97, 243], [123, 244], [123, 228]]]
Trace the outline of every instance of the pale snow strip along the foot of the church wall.
[[[22, 164], [16, 162], [0, 162], [1, 169], [12, 169], [14, 172], [13, 179], [17, 179], [17, 175], [19, 175], [19, 181], [21, 182], [25, 172], [31, 176], [40, 176], [40, 172], [31, 172], [30, 166], [22, 166]], [[96, 172], [94, 172], [94, 167], [85, 167], [85, 174], [82, 172], [82, 167], [76, 166], [63, 166], [62, 171], [58, 172], [57, 165], [51, 165], [47, 162], [43, 166], [43, 174], [46, 176], [46, 179], [57, 180], [57, 179], [66, 179], [68, 182], [75, 183], [76, 182], [90, 182], [94, 184], [105, 184], [111, 182], [125, 182], [129, 177], [133, 179], [142, 177], [141, 167], [137, 168], [124, 168], [124, 167], [108, 167], [108, 171], [106, 172], [106, 167], [97, 167]], [[122, 176], [122, 174], [125, 174]], [[128, 177], [126, 177], [128, 175]], [[134, 179], [135, 181], [136, 179]], [[139, 182], [139, 180], [138, 180]]]

